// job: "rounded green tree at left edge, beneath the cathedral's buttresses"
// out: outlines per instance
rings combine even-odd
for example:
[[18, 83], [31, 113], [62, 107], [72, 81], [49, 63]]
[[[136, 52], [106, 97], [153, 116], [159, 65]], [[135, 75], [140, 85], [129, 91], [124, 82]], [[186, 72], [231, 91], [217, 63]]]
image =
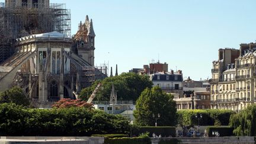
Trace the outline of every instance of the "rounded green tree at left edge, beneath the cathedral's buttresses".
[[30, 102], [19, 87], [12, 87], [0, 93], [0, 103], [15, 103], [18, 105], [28, 106]]

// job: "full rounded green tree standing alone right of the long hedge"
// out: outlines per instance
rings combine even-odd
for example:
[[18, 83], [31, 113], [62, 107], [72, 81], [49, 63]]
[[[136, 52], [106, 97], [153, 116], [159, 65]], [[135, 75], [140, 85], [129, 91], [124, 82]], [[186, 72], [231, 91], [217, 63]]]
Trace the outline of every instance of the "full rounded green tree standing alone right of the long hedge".
[[158, 126], [175, 126], [177, 123], [176, 103], [173, 96], [162, 91], [159, 87], [146, 88], [136, 101], [134, 111], [135, 123], [140, 126], [154, 126], [155, 118]]

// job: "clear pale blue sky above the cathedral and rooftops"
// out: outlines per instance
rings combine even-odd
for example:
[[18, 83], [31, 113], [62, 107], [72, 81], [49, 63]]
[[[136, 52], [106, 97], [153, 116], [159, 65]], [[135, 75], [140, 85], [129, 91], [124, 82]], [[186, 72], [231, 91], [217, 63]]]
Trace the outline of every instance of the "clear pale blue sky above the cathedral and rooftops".
[[[3, 1], [3, 0], [0, 0]], [[94, 23], [95, 65], [109, 62], [119, 73], [159, 60], [184, 78], [211, 78], [223, 47], [256, 40], [256, 1], [52, 0], [72, 13], [72, 34], [89, 15]]]

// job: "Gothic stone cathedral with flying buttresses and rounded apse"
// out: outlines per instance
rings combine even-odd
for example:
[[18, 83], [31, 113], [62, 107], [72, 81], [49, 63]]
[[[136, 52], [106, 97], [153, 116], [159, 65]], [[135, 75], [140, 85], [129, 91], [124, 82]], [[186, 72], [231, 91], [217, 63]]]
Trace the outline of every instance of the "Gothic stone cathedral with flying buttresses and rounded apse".
[[[55, 11], [49, 1], [32, 2], [21, 1], [12, 5], [12, 1], [7, 0], [5, 8], [11, 5], [16, 8], [20, 4], [19, 9], [32, 8], [34, 13], [40, 11], [40, 7]], [[4, 11], [4, 8], [1, 10]], [[53, 20], [57, 18], [53, 17]], [[16, 33], [23, 33], [12, 37], [15, 42], [9, 45], [9, 49], [13, 48], [14, 53], [0, 62], [0, 91], [17, 85], [35, 104], [47, 105], [60, 98], [78, 98], [82, 88], [107, 77], [107, 68], [98, 69], [94, 66], [95, 33], [88, 15], [72, 37], [66, 33], [68, 28], [64, 26], [56, 30], [47, 29], [40, 26], [37, 20], [32, 20], [28, 29], [16, 30]], [[1, 47], [0, 41], [1, 48], [5, 47]]]

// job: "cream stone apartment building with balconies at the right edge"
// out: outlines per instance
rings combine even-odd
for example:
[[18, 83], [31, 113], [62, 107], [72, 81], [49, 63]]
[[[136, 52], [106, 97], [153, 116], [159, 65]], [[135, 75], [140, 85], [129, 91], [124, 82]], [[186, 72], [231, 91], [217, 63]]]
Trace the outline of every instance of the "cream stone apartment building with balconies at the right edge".
[[210, 79], [211, 108], [240, 111], [255, 103], [255, 50], [256, 43], [219, 49]]

